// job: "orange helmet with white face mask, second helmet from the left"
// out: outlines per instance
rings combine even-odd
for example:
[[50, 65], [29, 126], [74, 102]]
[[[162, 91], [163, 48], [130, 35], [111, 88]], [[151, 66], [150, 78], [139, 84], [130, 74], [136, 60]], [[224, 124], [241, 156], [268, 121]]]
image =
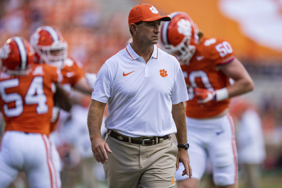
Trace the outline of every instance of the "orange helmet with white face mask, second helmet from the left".
[[30, 37], [30, 44], [35, 50], [35, 61], [62, 68], [68, 55], [68, 43], [62, 34], [51, 26], [36, 29]]

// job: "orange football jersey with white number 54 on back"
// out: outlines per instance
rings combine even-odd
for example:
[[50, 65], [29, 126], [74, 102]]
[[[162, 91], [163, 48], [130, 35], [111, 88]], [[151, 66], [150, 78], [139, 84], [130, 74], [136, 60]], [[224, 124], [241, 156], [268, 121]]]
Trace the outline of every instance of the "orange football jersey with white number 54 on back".
[[52, 83], [60, 82], [60, 70], [48, 65], [33, 66], [27, 75], [0, 72], [0, 108], [7, 130], [50, 133], [54, 105]]

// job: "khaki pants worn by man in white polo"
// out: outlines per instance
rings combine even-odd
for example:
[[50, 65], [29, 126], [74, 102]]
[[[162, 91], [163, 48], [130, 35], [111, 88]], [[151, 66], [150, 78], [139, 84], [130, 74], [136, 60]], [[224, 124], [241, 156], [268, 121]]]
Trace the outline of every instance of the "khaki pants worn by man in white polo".
[[[144, 138], [154, 137], [132, 139]], [[109, 188], [170, 188], [175, 185], [178, 149], [172, 140], [150, 146], [122, 142], [108, 134], [105, 140], [112, 150], [103, 164]]]

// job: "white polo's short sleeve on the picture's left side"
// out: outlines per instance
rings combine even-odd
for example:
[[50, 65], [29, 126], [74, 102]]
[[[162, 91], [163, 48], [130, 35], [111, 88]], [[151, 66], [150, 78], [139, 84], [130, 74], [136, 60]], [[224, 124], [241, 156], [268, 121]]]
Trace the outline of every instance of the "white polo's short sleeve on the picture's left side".
[[112, 76], [105, 63], [99, 70], [93, 84], [92, 99], [107, 103], [112, 94]]

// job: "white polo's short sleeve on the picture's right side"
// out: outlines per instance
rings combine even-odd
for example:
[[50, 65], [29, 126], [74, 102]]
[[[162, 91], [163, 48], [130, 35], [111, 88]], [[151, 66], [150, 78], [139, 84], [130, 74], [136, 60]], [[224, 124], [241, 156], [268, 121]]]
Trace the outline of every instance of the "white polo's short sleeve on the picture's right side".
[[178, 66], [177, 74], [175, 77], [175, 81], [170, 97], [173, 105], [188, 100], [188, 92], [180, 66]]

